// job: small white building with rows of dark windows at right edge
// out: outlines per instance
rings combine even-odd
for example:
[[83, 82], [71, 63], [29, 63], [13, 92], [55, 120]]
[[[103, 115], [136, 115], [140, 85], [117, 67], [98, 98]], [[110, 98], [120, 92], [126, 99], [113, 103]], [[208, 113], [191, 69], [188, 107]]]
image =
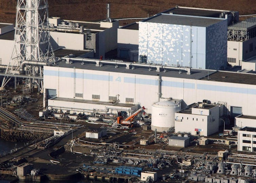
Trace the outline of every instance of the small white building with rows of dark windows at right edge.
[[256, 128], [243, 127], [238, 130], [237, 151], [256, 152]]

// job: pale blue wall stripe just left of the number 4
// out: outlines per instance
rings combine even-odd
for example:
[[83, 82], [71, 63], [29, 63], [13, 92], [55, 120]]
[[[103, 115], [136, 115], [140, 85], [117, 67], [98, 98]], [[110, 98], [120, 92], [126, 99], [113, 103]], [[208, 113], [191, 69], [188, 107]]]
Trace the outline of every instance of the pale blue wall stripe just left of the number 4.
[[[53, 71], [53, 70], [44, 70], [44, 75], [46, 76], [58, 76], [59, 77], [74, 77], [74, 72], [66, 72], [66, 71]], [[102, 74], [87, 74], [87, 73], [75, 73], [76, 78], [79, 79], [93, 79], [100, 81], [113, 81], [113, 76], [102, 75]]]

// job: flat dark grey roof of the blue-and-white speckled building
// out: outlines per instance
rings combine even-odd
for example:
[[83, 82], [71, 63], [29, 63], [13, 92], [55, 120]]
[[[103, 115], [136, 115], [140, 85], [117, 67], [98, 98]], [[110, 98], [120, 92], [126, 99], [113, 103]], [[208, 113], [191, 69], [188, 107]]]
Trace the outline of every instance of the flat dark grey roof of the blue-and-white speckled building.
[[159, 14], [155, 17], [142, 20], [141, 22], [175, 24], [175, 25], [193, 25], [199, 27], [208, 27], [215, 23], [221, 22], [223, 19], [193, 17], [184, 15]]

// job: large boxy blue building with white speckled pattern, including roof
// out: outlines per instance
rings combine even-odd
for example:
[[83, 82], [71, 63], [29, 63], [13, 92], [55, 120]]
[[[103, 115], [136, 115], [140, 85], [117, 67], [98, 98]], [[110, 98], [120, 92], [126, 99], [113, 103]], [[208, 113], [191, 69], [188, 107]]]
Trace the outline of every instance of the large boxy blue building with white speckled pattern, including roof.
[[147, 63], [221, 69], [227, 62], [227, 19], [158, 14], [139, 22], [139, 57]]

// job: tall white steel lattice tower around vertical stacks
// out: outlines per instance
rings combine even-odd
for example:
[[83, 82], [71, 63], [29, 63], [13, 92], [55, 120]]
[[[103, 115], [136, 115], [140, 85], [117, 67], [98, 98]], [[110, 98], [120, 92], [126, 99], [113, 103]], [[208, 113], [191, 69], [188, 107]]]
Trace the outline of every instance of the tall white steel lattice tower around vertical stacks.
[[[42, 76], [42, 66], [55, 61], [50, 44], [48, 0], [18, 0], [15, 27], [15, 45], [5, 73]], [[2, 87], [9, 80], [5, 76]], [[42, 82], [30, 79], [29, 83], [30, 87], [37, 84], [42, 90]]]

